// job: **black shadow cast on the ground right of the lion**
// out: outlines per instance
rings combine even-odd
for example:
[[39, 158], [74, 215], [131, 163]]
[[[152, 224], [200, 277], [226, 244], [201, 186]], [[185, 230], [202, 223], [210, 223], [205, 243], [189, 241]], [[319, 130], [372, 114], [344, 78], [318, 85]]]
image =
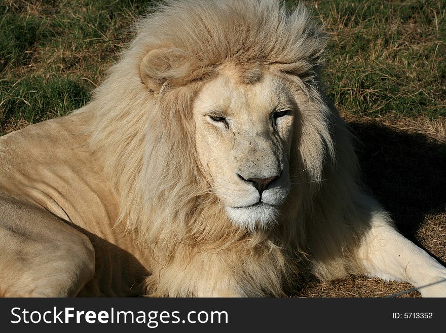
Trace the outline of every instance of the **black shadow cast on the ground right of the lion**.
[[349, 127], [358, 139], [364, 182], [400, 232], [413, 239], [426, 215], [446, 210], [446, 144], [377, 123]]

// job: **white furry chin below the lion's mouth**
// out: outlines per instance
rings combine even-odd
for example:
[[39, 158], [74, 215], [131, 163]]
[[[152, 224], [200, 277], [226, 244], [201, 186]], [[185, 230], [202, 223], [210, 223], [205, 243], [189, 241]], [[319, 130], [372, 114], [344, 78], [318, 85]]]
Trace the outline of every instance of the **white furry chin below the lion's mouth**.
[[227, 206], [226, 212], [234, 224], [249, 230], [256, 228], [268, 229], [277, 224], [279, 215], [277, 207], [266, 203], [247, 207]]

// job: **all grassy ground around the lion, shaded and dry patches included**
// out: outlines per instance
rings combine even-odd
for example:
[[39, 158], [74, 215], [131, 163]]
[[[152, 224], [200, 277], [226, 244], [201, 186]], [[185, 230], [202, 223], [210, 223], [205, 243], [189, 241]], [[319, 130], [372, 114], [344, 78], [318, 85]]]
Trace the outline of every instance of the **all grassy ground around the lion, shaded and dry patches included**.
[[[368, 186], [403, 233], [445, 261], [446, 2], [307, 3], [330, 36], [327, 94], [364, 143], [358, 155]], [[150, 4], [0, 2], [0, 135], [87, 103]], [[379, 297], [408, 288], [351, 277], [310, 282], [299, 295]]]

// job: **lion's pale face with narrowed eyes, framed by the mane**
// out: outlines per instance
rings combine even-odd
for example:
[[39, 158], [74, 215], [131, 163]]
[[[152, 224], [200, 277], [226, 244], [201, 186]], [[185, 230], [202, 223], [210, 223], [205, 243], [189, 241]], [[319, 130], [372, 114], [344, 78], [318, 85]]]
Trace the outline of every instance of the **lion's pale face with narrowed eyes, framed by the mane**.
[[242, 83], [226, 70], [194, 103], [196, 149], [231, 220], [253, 229], [275, 223], [289, 192], [296, 104], [287, 83], [266, 73]]

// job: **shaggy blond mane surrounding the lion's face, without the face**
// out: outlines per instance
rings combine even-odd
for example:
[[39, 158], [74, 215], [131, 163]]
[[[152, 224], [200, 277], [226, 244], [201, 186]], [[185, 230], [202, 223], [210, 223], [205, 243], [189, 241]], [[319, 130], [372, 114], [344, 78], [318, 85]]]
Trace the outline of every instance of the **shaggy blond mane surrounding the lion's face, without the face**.
[[[288, 13], [269, 0], [172, 0], [136, 30], [79, 112], [94, 113], [90, 145], [119, 198], [119, 223], [158, 264], [147, 292], [190, 295], [217, 267], [227, 267], [249, 295], [283, 294], [303, 267], [320, 278], [355, 271], [349, 254], [378, 206], [357, 185], [349, 134], [324, 97], [326, 36], [305, 8]], [[165, 51], [146, 71], [159, 93], [140, 73], [144, 57], [157, 50]], [[273, 71], [306, 96], [290, 157], [292, 190], [271, 230], [234, 226], [196, 155], [193, 99], [225, 63], [247, 83], [257, 70]]]

